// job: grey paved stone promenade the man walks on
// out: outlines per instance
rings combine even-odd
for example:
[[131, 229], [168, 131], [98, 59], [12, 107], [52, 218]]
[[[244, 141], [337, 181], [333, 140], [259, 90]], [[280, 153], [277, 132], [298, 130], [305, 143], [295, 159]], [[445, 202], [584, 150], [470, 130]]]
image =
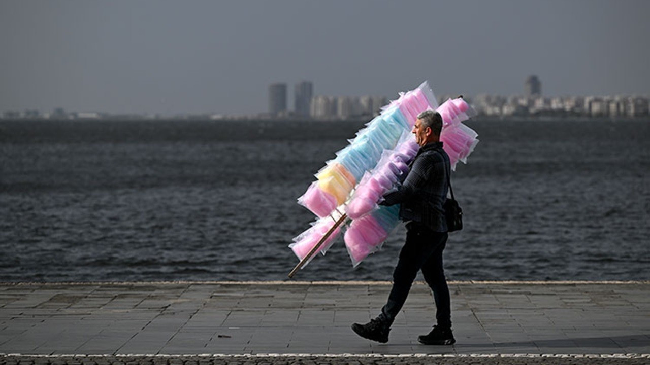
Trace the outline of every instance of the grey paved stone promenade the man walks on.
[[454, 346], [415, 283], [388, 344], [352, 322], [386, 282], [0, 284], [0, 365], [650, 364], [650, 282], [452, 282]]

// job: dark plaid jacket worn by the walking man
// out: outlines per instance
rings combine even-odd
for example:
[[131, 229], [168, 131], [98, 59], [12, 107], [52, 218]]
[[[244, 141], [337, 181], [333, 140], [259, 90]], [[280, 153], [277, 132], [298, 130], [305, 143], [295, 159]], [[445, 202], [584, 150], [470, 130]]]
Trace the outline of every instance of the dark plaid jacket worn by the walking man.
[[410, 168], [404, 183], [397, 191], [385, 195], [382, 205], [401, 203], [402, 220], [422, 223], [434, 232], [447, 232], [443, 203], [451, 169], [443, 143], [431, 142], [421, 147]]

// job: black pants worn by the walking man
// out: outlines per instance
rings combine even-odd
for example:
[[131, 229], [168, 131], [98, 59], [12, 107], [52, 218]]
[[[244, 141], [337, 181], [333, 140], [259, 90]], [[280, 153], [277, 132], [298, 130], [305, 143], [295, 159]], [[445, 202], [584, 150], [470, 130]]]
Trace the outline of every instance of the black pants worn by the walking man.
[[443, 270], [443, 250], [448, 234], [434, 232], [420, 225], [406, 225], [406, 243], [400, 251], [400, 258], [393, 272], [393, 288], [380, 318], [388, 325], [400, 312], [417, 271], [422, 270], [424, 280], [434, 292], [435, 320], [440, 327], [451, 327], [451, 302], [445, 271]]

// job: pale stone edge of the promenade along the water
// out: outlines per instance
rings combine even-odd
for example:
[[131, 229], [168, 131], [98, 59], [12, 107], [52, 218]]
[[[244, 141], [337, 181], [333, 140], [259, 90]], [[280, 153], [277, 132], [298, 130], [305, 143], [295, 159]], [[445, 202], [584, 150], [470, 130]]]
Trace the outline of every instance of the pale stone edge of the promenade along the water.
[[[19, 285], [41, 285], [41, 286], [59, 286], [59, 285], [141, 285], [141, 284], [220, 284], [220, 285], [392, 285], [392, 281], [60, 281], [60, 282], [0, 282], [0, 285], [19, 286]], [[424, 285], [424, 281], [415, 281], [414, 284]], [[558, 281], [525, 281], [525, 280], [504, 280], [504, 281], [480, 281], [480, 280], [460, 280], [448, 281], [447, 284], [526, 284], [526, 285], [567, 285], [567, 284], [650, 284], [650, 280], [631, 280], [631, 281], [580, 281], [580, 280], [558, 280]]]

